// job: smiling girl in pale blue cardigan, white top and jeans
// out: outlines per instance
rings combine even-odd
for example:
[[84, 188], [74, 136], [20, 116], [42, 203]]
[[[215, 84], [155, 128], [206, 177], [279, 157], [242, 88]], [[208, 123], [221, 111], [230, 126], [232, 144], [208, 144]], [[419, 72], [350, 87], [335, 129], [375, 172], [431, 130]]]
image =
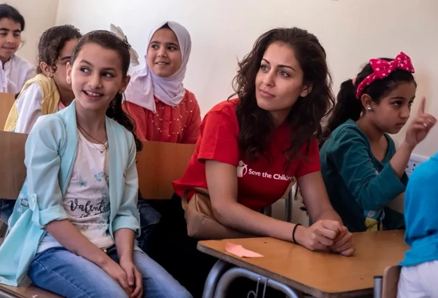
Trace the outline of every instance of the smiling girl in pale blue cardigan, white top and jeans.
[[38, 118], [27, 178], [0, 247], [0, 282], [24, 276], [63, 297], [191, 297], [136, 245], [141, 143], [123, 112], [129, 45], [93, 31], [75, 45], [75, 101]]

